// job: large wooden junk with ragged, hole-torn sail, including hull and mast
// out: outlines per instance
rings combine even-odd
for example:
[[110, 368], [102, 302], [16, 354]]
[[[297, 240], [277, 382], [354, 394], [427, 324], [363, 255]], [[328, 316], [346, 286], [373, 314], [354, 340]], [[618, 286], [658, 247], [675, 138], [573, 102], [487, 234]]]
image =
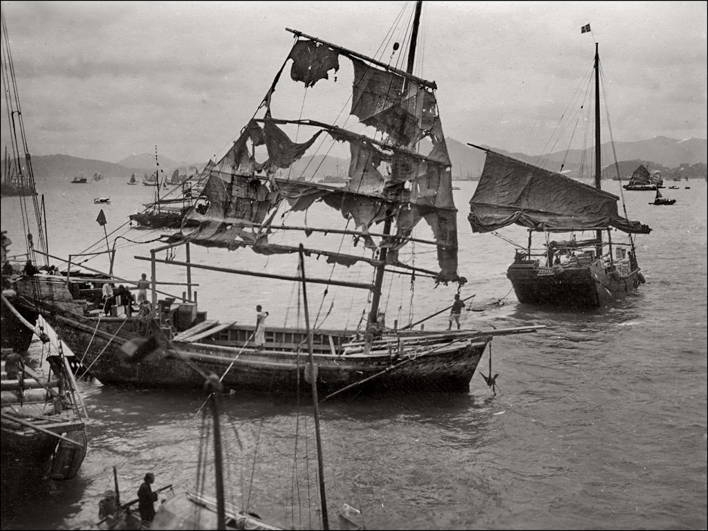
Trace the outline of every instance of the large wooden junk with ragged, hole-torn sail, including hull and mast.
[[[295, 42], [258, 107], [261, 118], [250, 120], [210, 168], [202, 191], [204, 207], [190, 210], [181, 232], [165, 236], [166, 245], [152, 249], [150, 257], [136, 257], [152, 263], [152, 304], [144, 304], [141, 312], [132, 318], [84, 314], [80, 294], [74, 298], [66, 281], [48, 276], [44, 281], [51, 286], [45, 286], [42, 293], [61, 298], [61, 307], [46, 295], [33, 296], [30, 289], [37, 286], [36, 281], [24, 290], [18, 286], [18, 297], [37, 307], [67, 341], [73, 341], [74, 350], [85, 353], [84, 365], [103, 384], [202, 387], [203, 379], [193, 370], [198, 367], [207, 374], [222, 373], [225, 387], [264, 392], [296, 392], [302, 387], [299, 382], [313, 378], [320, 389], [329, 392], [327, 396], [348, 391], [469, 392], [470, 379], [493, 336], [533, 332], [543, 326], [483, 331], [413, 331], [418, 324], [413, 322], [401, 329], [385, 326], [383, 303], [388, 286], [384, 287], [384, 278], [392, 278], [392, 273], [398, 275], [398, 282], [406, 282], [402, 291], [411, 296], [409, 282], [421, 278], [432, 281], [430, 290], [433, 283], [465, 282], [457, 273], [457, 210], [436, 86], [411, 74], [420, 9], [418, 3], [413, 32], [407, 34], [411, 47], [405, 72], [289, 30]], [[272, 98], [287, 89], [318, 93], [319, 84], [329, 79], [328, 72], [336, 71], [340, 61], [348, 62], [348, 75], [353, 76], [353, 85], [347, 85], [341, 97], [343, 101], [353, 97], [350, 113], [362, 122], [350, 127], [364, 132], [365, 126], [372, 127], [382, 139], [319, 120], [273, 117]], [[281, 74], [288, 64], [290, 79], [286, 80]], [[287, 86], [282, 88], [282, 84]], [[342, 87], [340, 81], [329, 89]], [[310, 107], [326, 112], [318, 103]], [[290, 112], [297, 115], [299, 106]], [[341, 120], [353, 122], [346, 113]], [[281, 128], [298, 126], [314, 129], [313, 133], [301, 132], [308, 138], [302, 143], [293, 142]], [[428, 142], [421, 142], [424, 139]], [[346, 186], [275, 178], [279, 169], [290, 168], [305, 154], [315, 156], [312, 151], [319, 149], [318, 140], [348, 147], [350, 181]], [[428, 152], [418, 151], [418, 144], [427, 145]], [[309, 209], [314, 209], [309, 219], [324, 220], [324, 227], [307, 225], [305, 215], [313, 212]], [[279, 214], [279, 219], [284, 215], [304, 218], [304, 224], [276, 225], [273, 219]], [[413, 237], [413, 228], [421, 219], [432, 239]], [[196, 226], [188, 229], [189, 222]], [[339, 222], [341, 228], [335, 227]], [[356, 229], [348, 227], [352, 223]], [[382, 232], [370, 231], [379, 223]], [[319, 265], [331, 273], [329, 278], [307, 278], [307, 282], [326, 285], [323, 297], [333, 290], [332, 297], [343, 301], [344, 314], [363, 325], [351, 329], [314, 326], [314, 369], [307, 371], [304, 362], [303, 346], [310, 335], [304, 327], [268, 326], [263, 343], [254, 345], [253, 325], [236, 324], [235, 319], [219, 323], [207, 319], [206, 312], [198, 312], [191, 289], [195, 270], [299, 282], [293, 258], [299, 252], [297, 244], [312, 234], [317, 241], [326, 241], [324, 248], [307, 246], [303, 253], [315, 265], [315, 258], [326, 258], [326, 264], [321, 261]], [[273, 243], [278, 235], [286, 244]], [[249, 270], [196, 263], [190, 261], [190, 246], [195, 245], [212, 249], [208, 258], [212, 264], [217, 260], [249, 265], [251, 260], [280, 260], [290, 264], [292, 274], [275, 274], [272, 269], [266, 273], [263, 265]], [[413, 248], [425, 245], [437, 252], [420, 254], [415, 265], [411, 258], [409, 263], [399, 258], [404, 251], [412, 255]], [[185, 250], [185, 261], [158, 258], [158, 253], [178, 246]], [[230, 258], [227, 250], [256, 254]], [[222, 258], [214, 258], [215, 253], [223, 253]], [[427, 265], [426, 256], [431, 264], [427, 269], [421, 267]], [[185, 268], [188, 291], [183, 297], [158, 300], [157, 263]], [[348, 272], [349, 266], [361, 268], [360, 273]], [[438, 266], [439, 270], [432, 269]], [[239, 290], [236, 282], [224, 287], [231, 286], [234, 292]], [[354, 301], [359, 308], [353, 308]], [[131, 361], [136, 359], [139, 362]]]

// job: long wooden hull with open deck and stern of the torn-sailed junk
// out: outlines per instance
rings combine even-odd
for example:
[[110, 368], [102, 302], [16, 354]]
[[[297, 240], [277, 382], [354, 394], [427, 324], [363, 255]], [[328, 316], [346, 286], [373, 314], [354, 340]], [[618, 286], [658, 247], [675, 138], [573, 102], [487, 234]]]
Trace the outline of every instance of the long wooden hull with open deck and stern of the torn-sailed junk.
[[[55, 285], [55, 295], [61, 295], [63, 285]], [[79, 304], [72, 306], [68, 292], [64, 295], [58, 304], [21, 296], [18, 304], [37, 304], [62, 340], [74, 352], [85, 353], [82, 366], [103, 384], [202, 388], [204, 375], [213, 372], [224, 375], [223, 384], [234, 390], [292, 393], [309, 388], [309, 353], [298, 349], [306, 344], [304, 330], [269, 328], [262, 349], [249, 343], [253, 326], [245, 325], [220, 327], [198, 341], [180, 340], [184, 334], [168, 339], [171, 332], [156, 321], [142, 330], [137, 316], [85, 316]], [[491, 339], [491, 334], [474, 331], [409, 332], [381, 336], [365, 352], [351, 332], [318, 332], [313, 348], [318, 387], [323, 393], [348, 386], [355, 392], [469, 392]], [[148, 352], [139, 361], [131, 355], [136, 348]]]

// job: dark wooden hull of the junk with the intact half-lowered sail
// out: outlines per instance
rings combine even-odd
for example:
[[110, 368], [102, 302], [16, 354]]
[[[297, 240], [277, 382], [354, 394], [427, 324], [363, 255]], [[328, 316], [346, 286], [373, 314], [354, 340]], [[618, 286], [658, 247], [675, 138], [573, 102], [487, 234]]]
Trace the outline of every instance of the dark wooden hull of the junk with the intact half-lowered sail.
[[523, 304], [593, 309], [633, 293], [642, 281], [639, 269], [621, 275], [600, 261], [575, 268], [546, 268], [538, 261], [513, 263], [507, 270]]

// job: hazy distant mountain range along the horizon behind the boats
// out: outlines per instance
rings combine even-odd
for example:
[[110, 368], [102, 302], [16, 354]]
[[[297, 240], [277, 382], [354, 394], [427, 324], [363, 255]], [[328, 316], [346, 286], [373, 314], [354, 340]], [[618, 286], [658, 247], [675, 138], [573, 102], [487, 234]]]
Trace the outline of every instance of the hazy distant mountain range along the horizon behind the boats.
[[[475, 180], [479, 178], [484, 167], [485, 152], [481, 149], [469, 147], [462, 142], [448, 137], [447, 149], [452, 161], [452, 178]], [[488, 146], [482, 146], [494, 149]], [[610, 144], [603, 146], [603, 152], [610, 148]], [[496, 152], [513, 156], [516, 159], [526, 161], [530, 164], [540, 164], [539, 156], [529, 156], [525, 154], [506, 152], [503, 149], [494, 149]], [[672, 173], [669, 169], [678, 169], [681, 166], [692, 166], [695, 164], [708, 163], [708, 141], [706, 139], [692, 138], [687, 140], [676, 140], [666, 137], [656, 137], [650, 140], [640, 140], [639, 142], [616, 142], [615, 151], [620, 164], [620, 176], [624, 179], [636, 169], [639, 164], [644, 164], [652, 170], [661, 170]], [[587, 149], [585, 159], [590, 160], [593, 155], [592, 149]], [[150, 174], [155, 171], [155, 155], [143, 153], [139, 155], [127, 156], [118, 163], [79, 159], [69, 155], [45, 155], [34, 156], [33, 168], [35, 178], [38, 182], [44, 180], [65, 180], [67, 183], [77, 175], [83, 174], [86, 178], [91, 178], [93, 173], [101, 173], [104, 178], [125, 179], [130, 178], [131, 173], [135, 173], [140, 179], [144, 173]], [[169, 176], [175, 169], [180, 169], [180, 173], [193, 171], [194, 167], [202, 169], [206, 161], [201, 163], [179, 163], [159, 156], [160, 169], [164, 175]], [[556, 152], [544, 157], [544, 167], [559, 171], [561, 164], [564, 164], [563, 171], [573, 176], [573, 172], [583, 161], [583, 150], [573, 149], [568, 152]], [[605, 160], [605, 164], [610, 161]], [[333, 156], [316, 155], [312, 161], [297, 161], [292, 167], [292, 175], [302, 175], [306, 179], [319, 181], [326, 176], [345, 175], [348, 171], [349, 159], [337, 159]], [[4, 168], [4, 165], [3, 165]], [[666, 173], [665, 173], [666, 172]], [[674, 171], [675, 172], [675, 171]], [[607, 178], [615, 176], [614, 164], [603, 171]]]

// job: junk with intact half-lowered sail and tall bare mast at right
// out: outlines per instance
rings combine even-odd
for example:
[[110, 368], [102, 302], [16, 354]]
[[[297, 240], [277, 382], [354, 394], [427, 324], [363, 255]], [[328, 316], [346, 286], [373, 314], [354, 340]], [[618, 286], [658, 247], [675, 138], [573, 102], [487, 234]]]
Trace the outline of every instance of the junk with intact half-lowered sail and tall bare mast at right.
[[[595, 188], [485, 149], [469, 222], [473, 232], [492, 232], [510, 224], [527, 227], [528, 245], [517, 249], [506, 272], [519, 302], [596, 308], [634, 292], [644, 282], [632, 234], [649, 234], [651, 229], [621, 217], [619, 198], [600, 189], [599, 68], [595, 45]], [[619, 174], [616, 163], [615, 168]], [[629, 241], [612, 241], [613, 228], [627, 233]], [[576, 233], [588, 231], [595, 237], [576, 239]], [[533, 232], [545, 234], [544, 249], [532, 248]], [[571, 239], [553, 239], [554, 233], [571, 233]]]

